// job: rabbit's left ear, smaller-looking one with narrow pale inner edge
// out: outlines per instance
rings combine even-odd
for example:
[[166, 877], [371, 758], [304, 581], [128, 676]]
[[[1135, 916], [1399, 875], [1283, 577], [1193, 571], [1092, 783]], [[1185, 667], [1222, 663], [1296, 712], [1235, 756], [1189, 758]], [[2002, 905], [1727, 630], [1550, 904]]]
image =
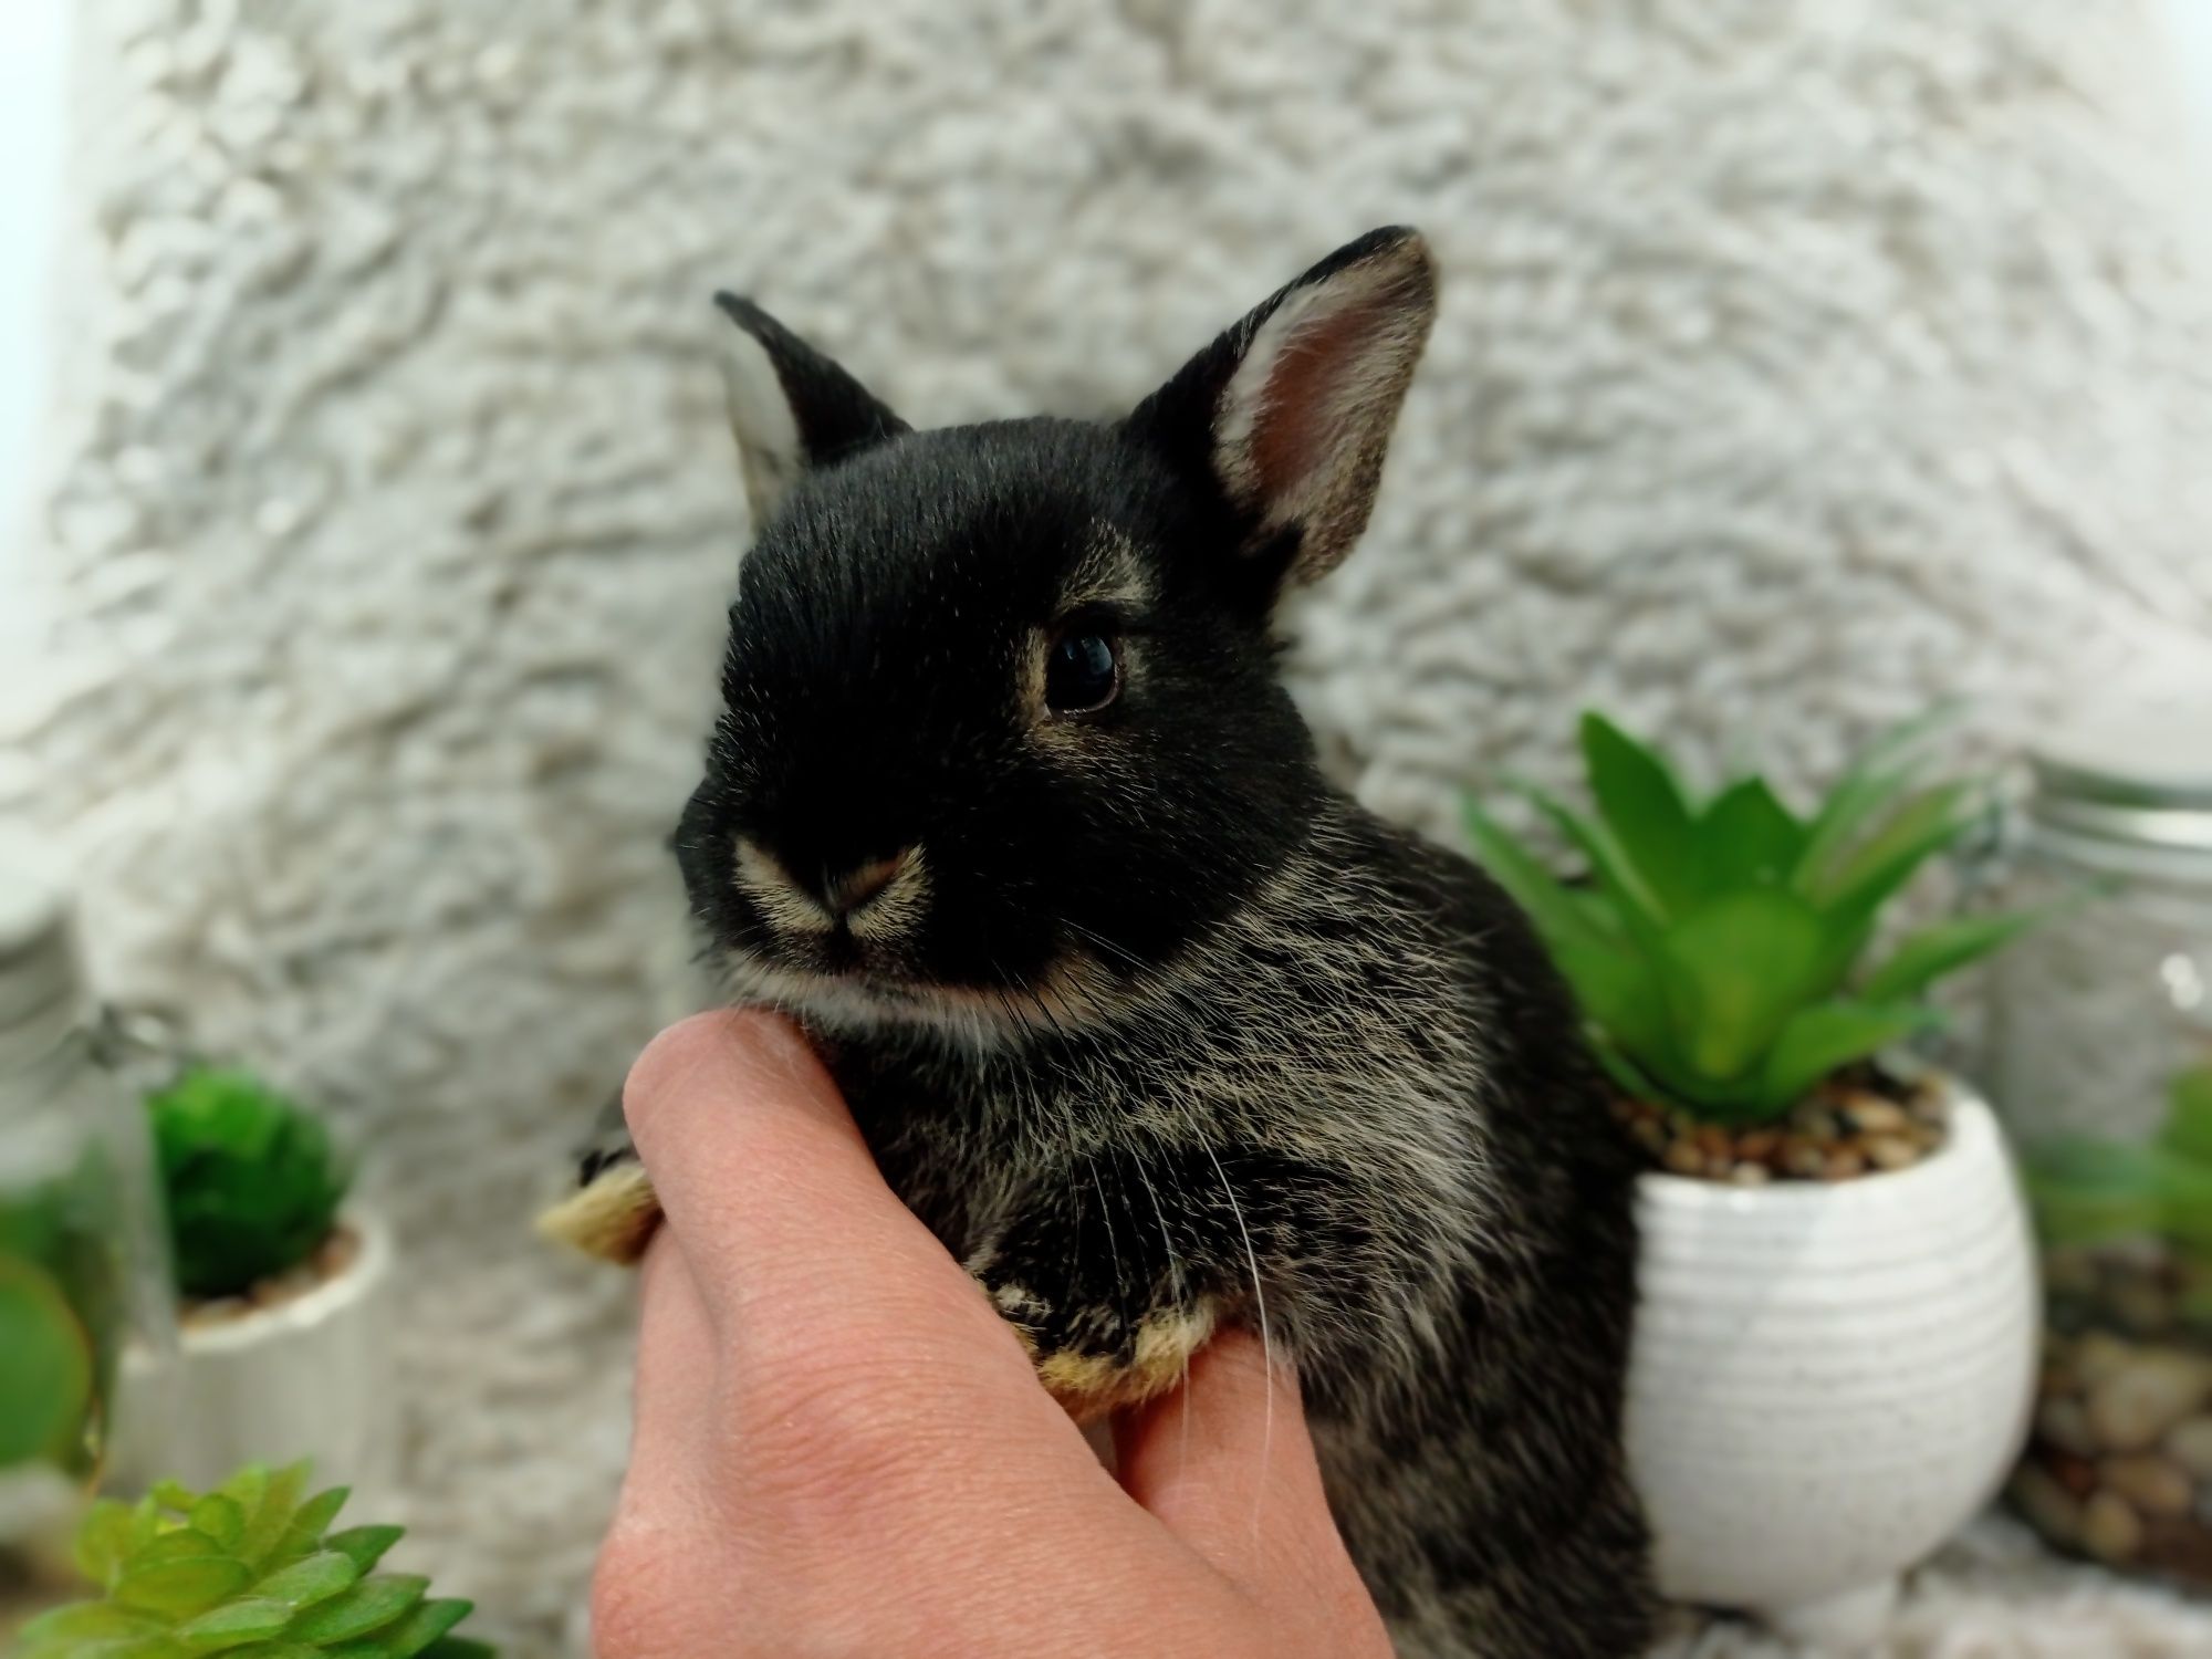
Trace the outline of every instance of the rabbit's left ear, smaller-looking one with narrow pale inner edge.
[[865, 385], [750, 299], [714, 294], [714, 303], [737, 323], [723, 334], [721, 383], [754, 524], [807, 467], [907, 431]]

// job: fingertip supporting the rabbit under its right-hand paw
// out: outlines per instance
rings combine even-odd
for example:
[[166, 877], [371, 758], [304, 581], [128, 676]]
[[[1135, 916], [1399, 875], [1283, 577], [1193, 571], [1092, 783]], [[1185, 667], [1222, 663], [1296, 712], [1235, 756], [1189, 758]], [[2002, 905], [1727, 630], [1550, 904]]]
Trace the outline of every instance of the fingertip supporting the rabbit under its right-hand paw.
[[1243, 1329], [1217, 1336], [1190, 1380], [1117, 1433], [1124, 1489], [1254, 1595], [1358, 1590], [1287, 1365]]

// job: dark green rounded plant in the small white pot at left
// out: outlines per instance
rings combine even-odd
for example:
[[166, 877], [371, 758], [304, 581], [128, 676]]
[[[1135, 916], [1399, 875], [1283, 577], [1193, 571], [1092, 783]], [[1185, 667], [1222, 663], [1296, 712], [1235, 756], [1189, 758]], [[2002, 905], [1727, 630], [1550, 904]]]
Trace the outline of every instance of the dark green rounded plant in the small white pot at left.
[[307, 1110], [217, 1066], [188, 1068], [146, 1108], [179, 1292], [237, 1296], [330, 1237], [352, 1177]]

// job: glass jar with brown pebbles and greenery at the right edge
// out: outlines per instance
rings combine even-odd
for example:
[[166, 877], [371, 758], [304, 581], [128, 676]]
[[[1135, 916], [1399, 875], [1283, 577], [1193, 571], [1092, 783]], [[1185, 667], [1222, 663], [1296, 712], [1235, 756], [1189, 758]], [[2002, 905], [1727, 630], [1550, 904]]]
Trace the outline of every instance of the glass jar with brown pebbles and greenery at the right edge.
[[2013, 1475], [2053, 1544], [2212, 1588], [2212, 714], [2031, 757], [1989, 1055], [2044, 1256]]

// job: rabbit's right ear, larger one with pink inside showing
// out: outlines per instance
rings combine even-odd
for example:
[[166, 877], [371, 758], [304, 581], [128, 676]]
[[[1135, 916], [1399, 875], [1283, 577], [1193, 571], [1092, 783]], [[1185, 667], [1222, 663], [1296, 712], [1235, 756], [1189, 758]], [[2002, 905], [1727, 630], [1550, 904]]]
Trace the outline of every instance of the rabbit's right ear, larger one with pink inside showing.
[[1418, 232], [1338, 248], [1199, 352], [1128, 429], [1203, 469], [1285, 580], [1334, 568], [1374, 509], [1383, 451], [1436, 316]]

